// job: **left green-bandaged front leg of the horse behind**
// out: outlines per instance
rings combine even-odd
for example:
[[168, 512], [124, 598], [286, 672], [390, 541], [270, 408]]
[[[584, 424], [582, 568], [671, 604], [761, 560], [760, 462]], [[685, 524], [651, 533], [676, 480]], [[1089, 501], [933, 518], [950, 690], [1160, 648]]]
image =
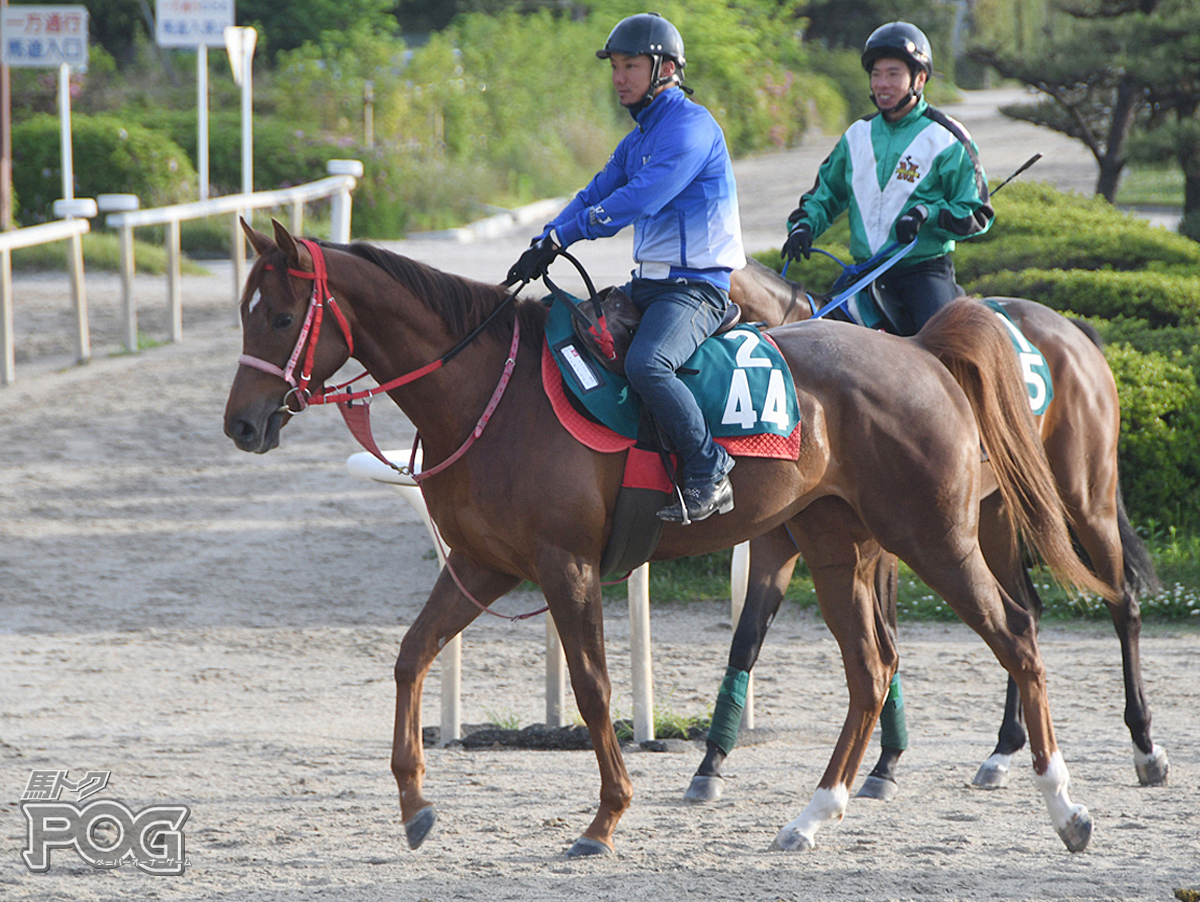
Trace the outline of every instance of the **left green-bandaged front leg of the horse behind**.
[[715, 801], [725, 790], [721, 764], [738, 741], [750, 669], [758, 660], [767, 630], [779, 612], [798, 558], [796, 542], [786, 527], [778, 527], [750, 542], [746, 600], [733, 632], [725, 679], [713, 708], [704, 759], [684, 793], [685, 801]]

